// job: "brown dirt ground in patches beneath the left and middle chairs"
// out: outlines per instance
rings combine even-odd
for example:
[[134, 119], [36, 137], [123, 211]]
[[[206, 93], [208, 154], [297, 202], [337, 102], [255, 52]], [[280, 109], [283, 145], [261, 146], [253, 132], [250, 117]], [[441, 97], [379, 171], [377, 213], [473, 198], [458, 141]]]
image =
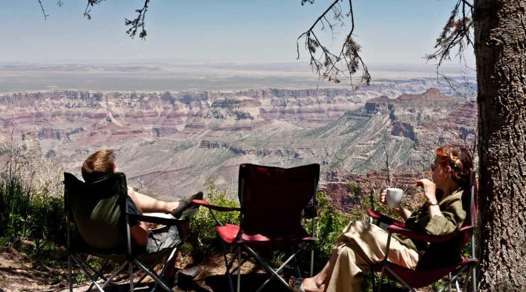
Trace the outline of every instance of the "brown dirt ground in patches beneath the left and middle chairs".
[[[2, 247], [0, 249], [0, 292], [47, 292], [47, 291], [69, 291], [67, 282], [67, 257], [64, 248], [57, 248], [56, 255], [60, 263], [59, 265], [50, 266], [38, 263], [38, 261], [31, 260], [25, 254], [18, 253], [13, 248]], [[183, 268], [188, 263], [178, 263], [178, 268]], [[191, 264], [190, 264], [191, 265]], [[180, 291], [228, 291], [228, 281], [224, 278], [225, 267], [220, 256], [206, 258], [203, 263], [197, 264], [199, 267], [199, 274], [194, 280], [181, 281], [174, 286], [175, 292]], [[242, 268], [241, 275], [241, 290], [253, 291], [268, 278], [263, 270], [251, 263], [246, 263]], [[233, 279], [234, 283], [236, 278]], [[149, 291], [153, 280], [149, 277], [145, 279], [145, 284], [140, 284], [135, 287], [136, 291]], [[89, 285], [87, 281], [82, 281], [82, 284], [74, 284], [73, 291], [81, 292], [87, 291]], [[121, 278], [117, 282], [117, 287], [127, 290], [129, 284], [126, 278]], [[236, 284], [234, 284], [236, 285]], [[94, 288], [93, 291], [97, 289]], [[110, 288], [109, 291], [117, 291], [115, 288]], [[272, 279], [270, 283], [262, 291], [285, 292], [289, 291], [284, 285], [279, 283], [276, 279]]]

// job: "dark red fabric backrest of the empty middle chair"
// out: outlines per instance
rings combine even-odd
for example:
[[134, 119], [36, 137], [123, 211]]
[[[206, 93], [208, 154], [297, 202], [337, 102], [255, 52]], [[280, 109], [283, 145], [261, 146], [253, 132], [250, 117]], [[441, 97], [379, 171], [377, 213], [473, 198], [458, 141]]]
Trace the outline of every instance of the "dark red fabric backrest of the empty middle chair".
[[320, 166], [239, 166], [241, 229], [247, 235], [283, 239], [306, 234], [301, 212], [316, 195]]

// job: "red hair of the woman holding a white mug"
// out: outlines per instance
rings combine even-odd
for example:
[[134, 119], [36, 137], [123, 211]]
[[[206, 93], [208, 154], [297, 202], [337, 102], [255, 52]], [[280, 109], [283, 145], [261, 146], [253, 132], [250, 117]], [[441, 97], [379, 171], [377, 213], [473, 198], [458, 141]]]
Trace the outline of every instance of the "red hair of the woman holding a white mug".
[[469, 185], [470, 169], [473, 159], [466, 147], [457, 144], [447, 144], [437, 148], [437, 156], [442, 167], [451, 167], [449, 177], [463, 187]]

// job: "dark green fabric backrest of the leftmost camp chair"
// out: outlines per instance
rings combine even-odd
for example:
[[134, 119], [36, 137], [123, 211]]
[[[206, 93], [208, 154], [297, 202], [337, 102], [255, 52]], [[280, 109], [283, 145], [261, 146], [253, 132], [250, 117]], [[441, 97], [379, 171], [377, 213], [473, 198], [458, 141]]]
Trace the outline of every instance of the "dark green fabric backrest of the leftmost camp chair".
[[84, 183], [64, 173], [64, 205], [69, 220], [90, 247], [126, 251], [126, 176], [110, 174]]

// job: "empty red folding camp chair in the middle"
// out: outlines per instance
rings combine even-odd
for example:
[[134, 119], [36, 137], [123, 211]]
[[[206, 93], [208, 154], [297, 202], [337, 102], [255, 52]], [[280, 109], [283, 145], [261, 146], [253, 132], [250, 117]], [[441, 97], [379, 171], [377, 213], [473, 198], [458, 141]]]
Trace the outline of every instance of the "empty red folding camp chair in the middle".
[[[237, 291], [240, 290], [242, 250], [264, 266], [270, 277], [257, 289], [261, 290], [272, 278], [277, 278], [286, 287], [289, 284], [278, 273], [290, 261], [296, 261], [296, 256], [305, 251], [309, 243], [317, 239], [307, 234], [301, 226], [301, 212], [312, 199], [310, 205], [316, 204], [316, 188], [318, 185], [320, 166], [311, 164], [294, 168], [279, 168], [259, 166], [253, 164], [242, 164], [239, 167], [239, 202], [240, 208], [228, 208], [210, 205], [203, 200], [194, 200], [202, 206], [210, 209], [210, 213], [216, 220], [216, 229], [222, 239], [225, 265], [227, 267], [230, 290], [234, 291], [231, 273], [237, 269]], [[313, 203], [313, 204], [312, 204]], [[316, 208], [316, 207], [315, 207]], [[219, 222], [213, 210], [221, 212], [239, 211], [240, 225], [223, 224]], [[311, 212], [309, 212], [311, 213]], [[309, 216], [310, 215], [310, 216]], [[305, 217], [315, 217], [315, 214], [307, 214]], [[313, 219], [314, 220], [314, 219]], [[314, 221], [312, 221], [314, 223]], [[312, 228], [314, 230], [314, 228]], [[236, 253], [231, 262], [228, 263], [225, 243], [236, 246]], [[268, 265], [257, 254], [260, 251], [285, 250], [298, 246], [292, 251], [292, 255], [276, 270]], [[311, 251], [311, 273], [313, 251]], [[230, 272], [234, 260], [238, 260], [237, 267]], [[300, 273], [296, 261], [296, 268]]]

